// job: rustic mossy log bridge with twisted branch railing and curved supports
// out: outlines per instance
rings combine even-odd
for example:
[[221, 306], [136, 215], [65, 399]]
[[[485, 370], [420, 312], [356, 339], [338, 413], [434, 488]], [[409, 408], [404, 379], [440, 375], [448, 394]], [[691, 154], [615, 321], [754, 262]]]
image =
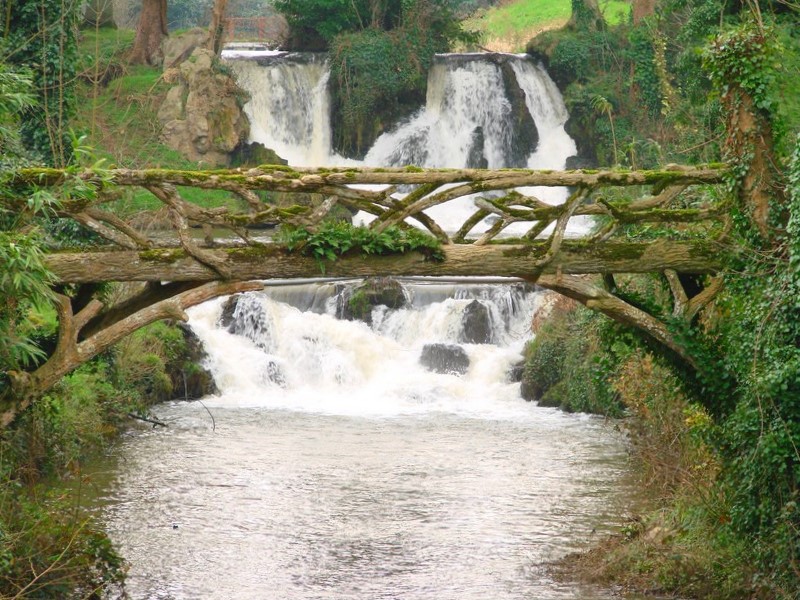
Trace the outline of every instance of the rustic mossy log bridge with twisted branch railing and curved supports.
[[[692, 366], [663, 319], [620, 297], [614, 277], [660, 274], [673, 297], [672, 317], [691, 322], [719, 291], [718, 273], [731, 251], [721, 185], [726, 175], [724, 165], [650, 171], [20, 169], [7, 177], [5, 188], [15, 193], [2, 199], [6, 208], [24, 210], [27, 194], [48, 189], [59, 199], [57, 216], [92, 231], [97, 243], [46, 255], [58, 344], [37, 370], [10, 374], [15, 400], [0, 411], [0, 426], [139, 327], [185, 320], [189, 306], [258, 289], [259, 280], [319, 276], [321, 266], [328, 277], [522, 278], [641, 329]], [[566, 200], [554, 206], [539, 199], [537, 190], [548, 187], [566, 188]], [[445, 231], [426, 212], [465, 197], [474, 209], [456, 231]], [[131, 211], [142, 202], [150, 210]], [[265, 228], [319, 231], [336, 211], [371, 215], [367, 227], [375, 233], [424, 229], [441, 244], [439, 259], [351, 250], [321, 265], [301, 249], [265, 239]], [[594, 226], [575, 235], [570, 222], [577, 217], [592, 217]], [[510, 237], [512, 225], [523, 233]], [[96, 294], [103, 282], [140, 284], [109, 305]]]

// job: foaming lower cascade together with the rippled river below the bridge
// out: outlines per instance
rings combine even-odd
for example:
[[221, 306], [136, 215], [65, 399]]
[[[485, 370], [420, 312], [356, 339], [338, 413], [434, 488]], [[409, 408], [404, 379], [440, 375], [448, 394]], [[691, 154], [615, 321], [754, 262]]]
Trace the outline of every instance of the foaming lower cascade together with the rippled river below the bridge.
[[[247, 295], [238, 333], [220, 301], [193, 309], [220, 393], [156, 407], [169, 426], [110, 457], [102, 519], [131, 598], [611, 598], [545, 565], [619, 524], [624, 440], [519, 396], [514, 322], [538, 293], [504, 289], [417, 286], [372, 327], [308, 289], [302, 310]], [[476, 297], [505, 310], [495, 341], [461, 344], [463, 375], [422, 368], [420, 339], [457, 340]]]

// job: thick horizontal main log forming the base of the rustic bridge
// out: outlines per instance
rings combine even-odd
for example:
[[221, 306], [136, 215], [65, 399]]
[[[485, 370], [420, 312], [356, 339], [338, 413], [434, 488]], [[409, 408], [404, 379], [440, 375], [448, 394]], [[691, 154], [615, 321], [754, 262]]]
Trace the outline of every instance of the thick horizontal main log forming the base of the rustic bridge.
[[[548, 249], [531, 245], [459, 245], [442, 247], [444, 260], [418, 252], [390, 256], [346, 255], [324, 263], [288, 252], [278, 245], [205, 249], [224, 265], [231, 280], [383, 276], [529, 277]], [[565, 240], [543, 266], [543, 274], [713, 273], [722, 267], [722, 248], [707, 241], [658, 240], [649, 243], [574, 243]], [[222, 276], [182, 249], [63, 252], [47, 256], [46, 265], [61, 283], [92, 281], [213, 281]]]

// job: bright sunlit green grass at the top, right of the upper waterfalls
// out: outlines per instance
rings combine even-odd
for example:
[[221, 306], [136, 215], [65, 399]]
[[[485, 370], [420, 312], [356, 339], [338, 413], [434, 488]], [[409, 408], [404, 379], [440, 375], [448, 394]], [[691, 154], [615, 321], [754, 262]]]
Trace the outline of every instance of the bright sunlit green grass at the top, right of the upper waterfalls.
[[[499, 52], [522, 52], [525, 44], [548, 29], [564, 26], [571, 14], [570, 0], [517, 0], [480, 10], [465, 21], [468, 29], [484, 34], [484, 46]], [[610, 25], [624, 21], [630, 3], [600, 0], [600, 10]]]

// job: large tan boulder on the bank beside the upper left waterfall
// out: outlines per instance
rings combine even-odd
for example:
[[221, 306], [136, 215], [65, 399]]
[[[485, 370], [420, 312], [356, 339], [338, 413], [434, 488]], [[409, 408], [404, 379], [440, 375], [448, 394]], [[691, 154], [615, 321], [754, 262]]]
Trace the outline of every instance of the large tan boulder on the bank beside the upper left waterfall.
[[158, 110], [162, 141], [191, 161], [227, 166], [250, 132], [235, 79], [219, 69], [213, 52], [197, 47], [164, 80], [173, 87]]

